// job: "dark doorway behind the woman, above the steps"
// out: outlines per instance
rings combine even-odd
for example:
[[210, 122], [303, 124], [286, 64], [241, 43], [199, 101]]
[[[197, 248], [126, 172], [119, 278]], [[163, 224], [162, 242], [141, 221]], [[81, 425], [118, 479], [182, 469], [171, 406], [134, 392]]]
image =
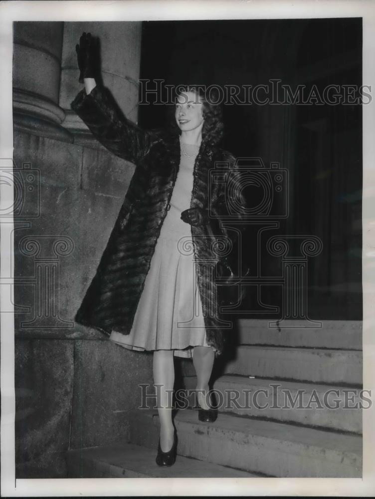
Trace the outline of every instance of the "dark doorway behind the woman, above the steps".
[[[307, 104], [224, 105], [222, 147], [288, 171], [288, 216], [269, 237], [321, 240], [321, 252], [307, 263], [309, 316], [362, 319], [362, 19], [144, 22], [141, 79], [158, 78], [170, 85], [237, 85], [239, 100], [246, 85], [279, 80], [293, 92], [304, 86]], [[139, 121], [162, 126], [167, 110], [140, 105]], [[263, 274], [281, 275], [280, 258], [262, 244]], [[259, 248], [248, 248], [255, 261]], [[248, 286], [243, 309], [277, 317], [271, 309], [256, 313], [259, 293], [263, 303], [280, 306], [280, 285]]]

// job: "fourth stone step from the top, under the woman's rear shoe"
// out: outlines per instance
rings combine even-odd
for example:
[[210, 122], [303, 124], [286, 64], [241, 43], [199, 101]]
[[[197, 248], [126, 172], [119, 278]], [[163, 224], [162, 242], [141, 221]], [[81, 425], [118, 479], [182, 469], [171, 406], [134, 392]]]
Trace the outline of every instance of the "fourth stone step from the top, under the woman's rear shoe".
[[[285, 423], [219, 414], [198, 421], [197, 411], [175, 417], [178, 453], [201, 461], [273, 477], [362, 477], [362, 438]], [[157, 411], [139, 410], [130, 421], [131, 440], [157, 448]]]

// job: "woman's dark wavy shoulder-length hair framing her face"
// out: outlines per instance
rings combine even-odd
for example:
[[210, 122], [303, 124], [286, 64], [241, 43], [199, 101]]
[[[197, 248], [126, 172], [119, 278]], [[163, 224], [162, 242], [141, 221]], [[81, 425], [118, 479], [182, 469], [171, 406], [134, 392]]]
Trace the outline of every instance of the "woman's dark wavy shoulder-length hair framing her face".
[[[210, 89], [209, 98], [200, 86], [180, 85], [178, 90], [175, 90], [175, 102], [177, 97], [184, 92], [194, 92], [201, 98], [203, 104], [203, 127], [202, 127], [202, 142], [205, 145], [216, 145], [220, 142], [224, 134], [224, 124], [222, 121], [222, 108], [218, 102], [218, 92], [214, 88]], [[217, 102], [217, 103], [216, 103]], [[170, 123], [175, 133], [180, 135], [181, 130], [178, 127], [175, 119], [175, 106], [171, 107]]]

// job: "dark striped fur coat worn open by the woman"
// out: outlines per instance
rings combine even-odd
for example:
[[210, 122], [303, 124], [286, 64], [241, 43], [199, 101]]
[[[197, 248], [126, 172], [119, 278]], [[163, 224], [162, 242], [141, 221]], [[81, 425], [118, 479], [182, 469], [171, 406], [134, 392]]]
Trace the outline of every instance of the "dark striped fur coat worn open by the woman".
[[[71, 107], [101, 144], [136, 165], [115, 226], [75, 320], [107, 335], [112, 330], [129, 334], [179, 170], [179, 135], [140, 129], [124, 118], [111, 94], [100, 86], [89, 95], [82, 89]], [[229, 153], [216, 146], [205, 146], [202, 141], [193, 170], [191, 208], [227, 213], [224, 186], [222, 183], [208, 186], [209, 170], [216, 162], [232, 164], [232, 161]], [[211, 225], [213, 234], [228, 236], [215, 220]], [[208, 237], [203, 226], [191, 226], [191, 236], [206, 339], [220, 354], [231, 329], [220, 313], [212, 266], [209, 265], [218, 258], [212, 247], [215, 238], [212, 231]]]

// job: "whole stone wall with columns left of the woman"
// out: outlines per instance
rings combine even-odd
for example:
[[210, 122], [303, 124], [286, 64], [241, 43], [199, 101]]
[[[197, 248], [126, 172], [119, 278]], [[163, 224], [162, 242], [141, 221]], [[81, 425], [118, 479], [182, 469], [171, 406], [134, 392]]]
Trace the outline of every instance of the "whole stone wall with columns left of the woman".
[[82, 31], [100, 35], [105, 83], [132, 119], [138, 97], [140, 23], [88, 24], [14, 25], [16, 478], [64, 478], [69, 448], [127, 441], [138, 383], [152, 383], [152, 354], [73, 321], [134, 172], [68, 108]]

